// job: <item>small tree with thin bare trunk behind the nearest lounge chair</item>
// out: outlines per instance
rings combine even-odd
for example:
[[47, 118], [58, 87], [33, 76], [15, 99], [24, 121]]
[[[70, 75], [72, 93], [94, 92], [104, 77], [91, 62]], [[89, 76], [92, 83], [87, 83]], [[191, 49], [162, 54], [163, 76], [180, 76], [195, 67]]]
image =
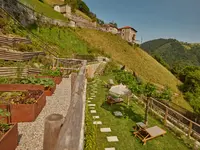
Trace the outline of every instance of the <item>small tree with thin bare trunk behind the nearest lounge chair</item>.
[[146, 109], [145, 109], [145, 117], [144, 117], [144, 122], [147, 125], [148, 124], [148, 112], [149, 112], [149, 103], [150, 103], [150, 98], [155, 94], [156, 92], [156, 87], [151, 84], [147, 83], [144, 88], [144, 94], [147, 97], [146, 99]]

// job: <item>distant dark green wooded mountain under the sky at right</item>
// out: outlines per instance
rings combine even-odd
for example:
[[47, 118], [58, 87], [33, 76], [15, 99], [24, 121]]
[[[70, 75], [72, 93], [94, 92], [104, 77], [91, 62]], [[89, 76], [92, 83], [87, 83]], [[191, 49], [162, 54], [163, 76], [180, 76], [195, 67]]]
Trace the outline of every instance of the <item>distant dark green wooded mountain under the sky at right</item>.
[[200, 44], [175, 39], [155, 39], [141, 45], [151, 56], [161, 57], [172, 69], [175, 66], [200, 66]]

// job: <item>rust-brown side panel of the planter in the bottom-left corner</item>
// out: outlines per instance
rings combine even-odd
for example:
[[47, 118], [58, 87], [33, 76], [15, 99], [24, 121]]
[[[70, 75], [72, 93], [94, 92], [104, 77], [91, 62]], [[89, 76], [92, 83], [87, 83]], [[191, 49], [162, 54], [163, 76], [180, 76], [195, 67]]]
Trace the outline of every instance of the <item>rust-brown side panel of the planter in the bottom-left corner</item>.
[[13, 124], [12, 128], [8, 130], [0, 138], [0, 149], [1, 150], [15, 150], [18, 144], [18, 129], [17, 124]]

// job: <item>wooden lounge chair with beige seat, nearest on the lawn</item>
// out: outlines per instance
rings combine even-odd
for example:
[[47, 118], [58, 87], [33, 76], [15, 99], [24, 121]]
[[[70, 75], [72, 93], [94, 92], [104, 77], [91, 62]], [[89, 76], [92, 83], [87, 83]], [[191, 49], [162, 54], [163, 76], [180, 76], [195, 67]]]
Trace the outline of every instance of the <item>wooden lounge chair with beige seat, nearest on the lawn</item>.
[[160, 127], [154, 126], [146, 129], [140, 128], [133, 134], [137, 136], [140, 140], [142, 140], [143, 144], [145, 145], [148, 140], [154, 139], [158, 136], [163, 136], [166, 133], [167, 132], [161, 129]]

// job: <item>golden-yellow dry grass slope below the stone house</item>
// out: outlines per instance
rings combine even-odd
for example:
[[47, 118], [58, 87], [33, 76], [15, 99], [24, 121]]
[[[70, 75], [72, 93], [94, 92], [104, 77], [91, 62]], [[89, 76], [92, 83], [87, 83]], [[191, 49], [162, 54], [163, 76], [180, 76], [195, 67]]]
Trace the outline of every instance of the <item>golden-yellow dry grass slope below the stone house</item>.
[[140, 48], [135, 49], [119, 36], [110, 33], [90, 29], [76, 30], [76, 32], [80, 38], [87, 41], [92, 47], [109, 55], [115, 61], [126, 65], [142, 79], [155, 83], [158, 86], [169, 86], [174, 92], [179, 93], [179, 97], [173, 101], [191, 110], [191, 107], [177, 89], [180, 81], [145, 51]]

